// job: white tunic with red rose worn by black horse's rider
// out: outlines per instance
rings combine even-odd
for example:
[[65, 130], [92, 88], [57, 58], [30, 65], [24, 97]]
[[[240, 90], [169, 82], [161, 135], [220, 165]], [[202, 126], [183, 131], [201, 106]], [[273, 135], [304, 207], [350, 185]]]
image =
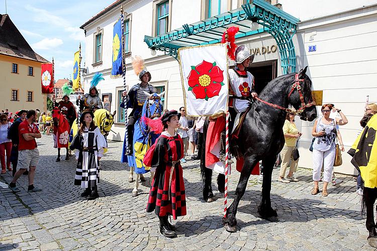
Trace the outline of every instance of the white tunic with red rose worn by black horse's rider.
[[[234, 97], [246, 98], [254, 92], [254, 76], [248, 71], [235, 71], [229, 69], [229, 91], [230, 95]], [[249, 106], [248, 99], [230, 98], [229, 105], [232, 106], [237, 112], [243, 112]]]

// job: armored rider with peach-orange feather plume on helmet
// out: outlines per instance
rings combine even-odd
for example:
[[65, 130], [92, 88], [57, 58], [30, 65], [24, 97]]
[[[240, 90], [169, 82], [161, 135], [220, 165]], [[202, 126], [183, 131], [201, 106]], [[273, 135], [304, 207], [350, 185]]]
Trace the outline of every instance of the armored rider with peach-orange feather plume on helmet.
[[[141, 83], [132, 86], [129, 92], [126, 90], [122, 92], [123, 102], [121, 103], [122, 108], [132, 108], [131, 114], [128, 117], [127, 132], [128, 132], [128, 145], [126, 150], [126, 155], [132, 155], [132, 142], [134, 125], [138, 118], [141, 117], [143, 110], [143, 105], [145, 100], [149, 97], [149, 94], [156, 93], [156, 88], [149, 84], [151, 80], [151, 74], [144, 66], [144, 60], [140, 57], [135, 57], [132, 60], [132, 65], [135, 73], [139, 76]], [[140, 70], [138, 70], [140, 69]]]

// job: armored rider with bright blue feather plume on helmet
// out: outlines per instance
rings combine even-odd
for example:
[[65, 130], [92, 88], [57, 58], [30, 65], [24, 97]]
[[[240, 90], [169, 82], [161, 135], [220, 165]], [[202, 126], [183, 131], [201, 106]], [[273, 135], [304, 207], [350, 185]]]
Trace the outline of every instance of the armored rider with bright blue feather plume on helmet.
[[89, 93], [86, 93], [80, 97], [80, 110], [92, 109], [94, 112], [97, 109], [104, 108], [96, 87], [101, 80], [104, 80], [102, 73], [97, 72], [90, 81]]

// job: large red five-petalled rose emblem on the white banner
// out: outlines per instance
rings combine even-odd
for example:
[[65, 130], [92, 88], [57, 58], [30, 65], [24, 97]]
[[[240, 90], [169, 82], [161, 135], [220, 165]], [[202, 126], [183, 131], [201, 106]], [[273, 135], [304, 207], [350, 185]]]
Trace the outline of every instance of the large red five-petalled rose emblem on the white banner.
[[189, 79], [189, 91], [192, 91], [197, 99], [208, 100], [218, 96], [221, 86], [224, 85], [223, 70], [216, 66], [216, 62], [204, 61], [197, 66], [191, 66]]

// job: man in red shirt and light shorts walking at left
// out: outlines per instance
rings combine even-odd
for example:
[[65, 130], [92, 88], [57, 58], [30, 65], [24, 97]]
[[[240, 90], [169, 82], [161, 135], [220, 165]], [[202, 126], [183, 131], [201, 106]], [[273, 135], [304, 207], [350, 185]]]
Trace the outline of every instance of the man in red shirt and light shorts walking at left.
[[16, 187], [16, 181], [29, 168], [29, 187], [28, 192], [37, 192], [41, 189], [34, 186], [35, 169], [38, 165], [39, 151], [37, 149], [36, 138], [41, 138], [41, 133], [34, 123], [37, 119], [35, 110], [29, 110], [26, 119], [20, 123], [19, 126], [19, 157], [17, 166], [20, 170], [16, 172], [15, 177], [9, 184], [9, 188], [13, 192], [19, 192], [20, 189]]

